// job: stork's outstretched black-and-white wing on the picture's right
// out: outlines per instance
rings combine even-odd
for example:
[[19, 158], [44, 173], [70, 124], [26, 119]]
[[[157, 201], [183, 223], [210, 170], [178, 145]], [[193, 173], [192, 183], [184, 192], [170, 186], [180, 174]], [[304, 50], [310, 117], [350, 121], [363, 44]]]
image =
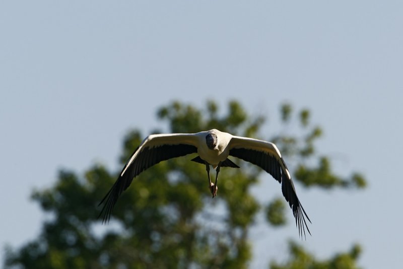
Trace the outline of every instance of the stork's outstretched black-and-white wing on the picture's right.
[[293, 211], [300, 236], [303, 233], [306, 237], [305, 228], [311, 234], [305, 217], [309, 222], [311, 221], [297, 197], [290, 172], [276, 145], [262, 140], [234, 136], [228, 147], [229, 155], [261, 167], [282, 184], [283, 195]]

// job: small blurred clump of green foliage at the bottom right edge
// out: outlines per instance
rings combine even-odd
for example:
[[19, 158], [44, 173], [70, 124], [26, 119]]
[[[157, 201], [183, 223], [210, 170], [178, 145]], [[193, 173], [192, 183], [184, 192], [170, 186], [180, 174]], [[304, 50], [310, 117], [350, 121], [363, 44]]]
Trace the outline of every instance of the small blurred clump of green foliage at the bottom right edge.
[[327, 260], [319, 260], [311, 253], [308, 253], [301, 245], [289, 242], [289, 260], [283, 265], [272, 261], [271, 269], [358, 269], [357, 259], [361, 253], [361, 247], [354, 245], [346, 253], [334, 254]]

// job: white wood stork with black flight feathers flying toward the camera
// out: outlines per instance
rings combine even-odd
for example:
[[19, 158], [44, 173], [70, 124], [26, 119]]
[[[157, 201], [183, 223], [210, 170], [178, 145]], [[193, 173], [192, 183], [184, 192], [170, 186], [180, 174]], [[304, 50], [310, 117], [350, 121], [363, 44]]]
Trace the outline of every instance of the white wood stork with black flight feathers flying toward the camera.
[[[191, 161], [206, 165], [209, 189], [213, 198], [217, 195], [217, 180], [220, 167], [239, 168], [228, 156], [237, 157], [261, 167], [282, 184], [283, 195], [288, 201], [295, 217], [299, 234], [308, 233], [305, 213], [295, 191], [287, 165], [281, 157], [276, 145], [270, 142], [233, 136], [217, 129], [197, 133], [151, 134], [148, 136], [123, 167], [118, 179], [113, 184], [99, 205], [105, 202], [100, 216], [104, 213], [103, 222], [110, 220], [110, 215], [117, 198], [131, 183], [134, 177], [151, 166], [171, 158], [197, 153]], [[210, 179], [210, 165], [216, 169], [216, 180]], [[305, 217], [304, 217], [305, 215]]]

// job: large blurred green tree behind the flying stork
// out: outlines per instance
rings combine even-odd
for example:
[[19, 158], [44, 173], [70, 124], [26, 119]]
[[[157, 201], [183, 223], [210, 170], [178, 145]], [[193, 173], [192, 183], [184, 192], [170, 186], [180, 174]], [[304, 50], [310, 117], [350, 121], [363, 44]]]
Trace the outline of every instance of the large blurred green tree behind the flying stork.
[[[224, 114], [215, 102], [208, 101], [205, 109], [173, 102], [160, 108], [157, 115], [169, 123], [169, 130], [165, 130], [168, 132], [217, 128], [255, 138], [259, 138], [265, 120], [248, 115], [236, 101], [229, 102]], [[299, 122], [297, 126], [294, 126], [295, 118]], [[290, 104], [283, 104], [281, 119], [283, 124], [294, 124], [303, 135], [277, 134], [263, 139], [275, 142], [286, 161], [294, 160], [294, 180], [307, 187], [365, 186], [360, 174], [354, 173], [349, 178], [337, 176], [331, 171], [329, 158], [316, 155], [314, 142], [322, 131], [310, 124], [309, 110], [293, 113]], [[163, 130], [154, 131], [158, 132]], [[120, 157], [122, 164], [144, 137], [137, 129], [127, 134]], [[106, 228], [100, 225], [96, 205], [120, 171], [110, 172], [100, 164], [93, 165], [83, 176], [73, 171], [59, 171], [52, 187], [32, 194], [33, 200], [51, 218], [43, 223], [38, 238], [17, 250], [7, 248], [5, 266], [247, 267], [252, 257], [248, 230], [254, 216], [259, 210], [265, 210], [268, 224], [284, 225], [287, 208], [284, 199], [275, 197], [269, 205], [260, 205], [249, 190], [257, 183], [261, 169], [236, 160], [247, 169], [223, 168], [219, 195], [213, 203], [205, 166], [190, 162], [191, 158], [162, 162], [133, 180], [119, 198]], [[351, 264], [354, 266], [355, 259]], [[272, 267], [283, 268], [277, 263], [272, 263]]]

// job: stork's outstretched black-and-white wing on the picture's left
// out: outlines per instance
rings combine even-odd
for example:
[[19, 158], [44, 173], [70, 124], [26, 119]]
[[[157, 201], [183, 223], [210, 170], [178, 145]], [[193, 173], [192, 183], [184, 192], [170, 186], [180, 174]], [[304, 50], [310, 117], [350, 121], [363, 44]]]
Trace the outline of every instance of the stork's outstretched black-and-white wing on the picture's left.
[[102, 199], [105, 205], [99, 216], [104, 214], [102, 223], [109, 221], [117, 198], [130, 185], [134, 177], [151, 166], [171, 158], [197, 152], [197, 136], [192, 133], [152, 134], [133, 152], [118, 179]]

